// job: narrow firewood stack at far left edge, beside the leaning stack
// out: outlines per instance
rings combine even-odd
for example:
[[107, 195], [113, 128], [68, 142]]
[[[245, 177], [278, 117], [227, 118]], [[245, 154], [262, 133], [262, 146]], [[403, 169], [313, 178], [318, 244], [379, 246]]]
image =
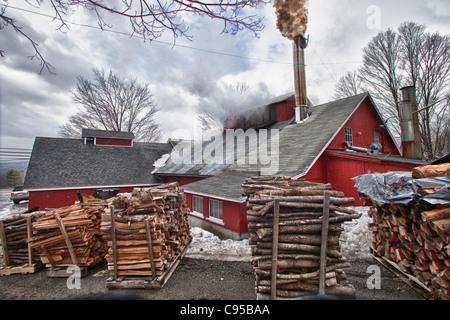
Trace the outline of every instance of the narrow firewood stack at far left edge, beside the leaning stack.
[[37, 214], [15, 214], [0, 221], [0, 240], [3, 251], [3, 266], [31, 265], [39, 262], [28, 248], [31, 223]]

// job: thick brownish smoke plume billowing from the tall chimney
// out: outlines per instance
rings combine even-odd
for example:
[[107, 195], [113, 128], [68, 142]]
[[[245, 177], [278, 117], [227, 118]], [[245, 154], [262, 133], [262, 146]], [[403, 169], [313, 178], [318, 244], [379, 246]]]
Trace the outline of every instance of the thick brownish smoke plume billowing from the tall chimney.
[[307, 0], [274, 0], [277, 12], [277, 27], [281, 34], [293, 40], [306, 33], [308, 25]]

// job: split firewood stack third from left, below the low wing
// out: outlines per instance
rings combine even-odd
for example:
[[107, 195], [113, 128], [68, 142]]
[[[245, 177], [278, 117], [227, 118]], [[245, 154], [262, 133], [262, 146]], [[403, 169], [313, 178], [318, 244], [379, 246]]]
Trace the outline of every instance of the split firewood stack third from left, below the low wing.
[[102, 231], [113, 276], [160, 276], [191, 239], [186, 196], [178, 183], [118, 194], [112, 210], [103, 215]]

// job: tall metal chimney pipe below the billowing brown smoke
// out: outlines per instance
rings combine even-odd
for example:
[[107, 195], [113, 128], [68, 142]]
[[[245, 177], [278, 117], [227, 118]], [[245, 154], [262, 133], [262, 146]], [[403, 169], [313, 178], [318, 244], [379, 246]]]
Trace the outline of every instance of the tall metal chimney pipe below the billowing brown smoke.
[[294, 89], [296, 122], [305, 120], [308, 117], [308, 96], [306, 94], [306, 72], [304, 49], [308, 46], [307, 39], [303, 35], [294, 38]]

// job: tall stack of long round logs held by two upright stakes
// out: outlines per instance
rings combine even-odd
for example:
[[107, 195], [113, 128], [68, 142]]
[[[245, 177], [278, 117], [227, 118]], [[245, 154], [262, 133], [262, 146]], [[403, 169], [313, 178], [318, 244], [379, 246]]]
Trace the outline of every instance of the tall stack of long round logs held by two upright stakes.
[[[252, 177], [242, 185], [247, 196], [247, 219], [252, 247], [252, 264], [256, 275], [258, 299], [295, 298], [319, 292], [320, 255], [322, 246], [322, 216], [324, 194], [330, 194], [329, 218], [323, 279], [325, 294], [354, 296], [352, 285], [342, 283], [346, 275], [342, 268], [350, 267], [340, 252], [341, 224], [360, 217], [360, 213], [344, 204], [354, 203], [342, 192], [331, 190], [329, 184], [292, 180], [290, 177]], [[278, 239], [274, 239], [274, 200], [279, 203]], [[276, 221], [276, 220], [275, 220]], [[272, 255], [274, 241], [277, 254]], [[272, 262], [276, 265], [276, 283], [272, 277]], [[275, 297], [275, 298], [276, 298]]]

